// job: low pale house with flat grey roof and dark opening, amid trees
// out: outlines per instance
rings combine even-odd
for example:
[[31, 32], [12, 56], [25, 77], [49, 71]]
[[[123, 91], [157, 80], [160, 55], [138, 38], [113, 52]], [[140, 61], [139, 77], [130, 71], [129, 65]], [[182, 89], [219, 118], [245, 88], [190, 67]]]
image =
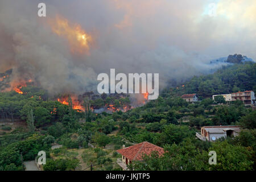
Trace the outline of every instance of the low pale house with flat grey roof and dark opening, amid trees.
[[236, 137], [240, 131], [240, 126], [203, 126], [201, 127], [201, 135], [196, 133], [196, 137], [212, 142], [221, 137]]

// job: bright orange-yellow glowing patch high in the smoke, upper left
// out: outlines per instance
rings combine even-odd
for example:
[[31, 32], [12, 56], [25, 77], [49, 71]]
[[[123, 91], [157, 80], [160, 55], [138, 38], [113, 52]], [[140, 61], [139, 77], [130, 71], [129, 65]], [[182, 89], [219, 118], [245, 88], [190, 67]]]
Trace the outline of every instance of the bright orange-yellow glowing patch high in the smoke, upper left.
[[82, 30], [80, 24], [71, 24], [67, 19], [56, 16], [49, 20], [52, 31], [69, 42], [71, 52], [89, 53], [89, 45], [92, 44], [92, 36]]

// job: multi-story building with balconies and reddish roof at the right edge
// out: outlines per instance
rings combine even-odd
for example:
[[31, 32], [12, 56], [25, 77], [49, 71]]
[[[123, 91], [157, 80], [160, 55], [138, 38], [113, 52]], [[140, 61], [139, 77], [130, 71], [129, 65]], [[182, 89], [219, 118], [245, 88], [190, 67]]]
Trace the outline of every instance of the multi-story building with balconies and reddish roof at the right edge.
[[245, 105], [253, 105], [255, 103], [255, 95], [253, 91], [232, 93], [232, 101], [240, 100]]

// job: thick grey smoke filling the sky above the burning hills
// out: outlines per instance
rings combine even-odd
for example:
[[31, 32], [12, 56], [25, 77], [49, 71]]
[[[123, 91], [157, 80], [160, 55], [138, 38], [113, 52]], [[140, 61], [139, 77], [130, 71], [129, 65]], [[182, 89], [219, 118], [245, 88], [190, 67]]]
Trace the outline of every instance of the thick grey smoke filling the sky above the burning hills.
[[[14, 68], [13, 79], [32, 78], [51, 93], [96, 90], [97, 74], [110, 68], [159, 73], [163, 87], [207, 72], [205, 63], [214, 58], [256, 58], [254, 1], [216, 1], [211, 17], [205, 0], [45, 0], [46, 18], [37, 16], [39, 2], [0, 1], [0, 72]], [[68, 40], [52, 31], [47, 22], [56, 15], [93, 36], [89, 53], [74, 54]]]

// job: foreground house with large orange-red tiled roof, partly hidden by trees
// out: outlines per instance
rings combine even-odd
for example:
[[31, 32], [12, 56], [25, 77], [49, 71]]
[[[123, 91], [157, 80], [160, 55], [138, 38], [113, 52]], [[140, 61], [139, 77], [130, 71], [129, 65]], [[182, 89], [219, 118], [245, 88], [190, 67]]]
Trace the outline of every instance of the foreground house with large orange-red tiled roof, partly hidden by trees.
[[122, 149], [117, 150], [117, 152], [122, 155], [123, 164], [132, 163], [133, 160], [142, 160], [143, 155], [150, 155], [152, 151], [157, 151], [159, 156], [164, 154], [162, 147], [149, 142], [138, 143], [130, 147], [123, 146]]

